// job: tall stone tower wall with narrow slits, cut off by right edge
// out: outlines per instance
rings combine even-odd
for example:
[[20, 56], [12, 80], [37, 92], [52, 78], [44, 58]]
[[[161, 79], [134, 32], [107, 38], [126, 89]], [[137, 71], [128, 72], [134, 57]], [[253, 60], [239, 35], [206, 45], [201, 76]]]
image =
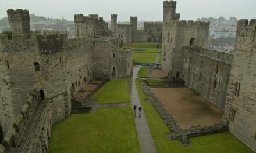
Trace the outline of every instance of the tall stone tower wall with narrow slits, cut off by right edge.
[[223, 121], [239, 140], [256, 151], [256, 19], [237, 24], [233, 64]]

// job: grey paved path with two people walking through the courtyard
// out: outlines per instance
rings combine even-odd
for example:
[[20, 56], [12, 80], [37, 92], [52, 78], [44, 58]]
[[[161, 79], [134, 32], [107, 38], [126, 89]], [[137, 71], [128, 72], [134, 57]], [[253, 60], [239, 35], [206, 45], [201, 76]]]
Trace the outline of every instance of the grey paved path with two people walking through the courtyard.
[[[133, 78], [132, 78], [132, 85], [130, 90], [131, 107], [133, 107], [133, 105], [137, 105], [137, 114], [136, 114], [136, 118], [134, 116], [134, 121], [136, 124], [141, 153], [155, 153], [157, 152], [157, 150], [155, 148], [154, 140], [151, 136], [150, 128], [148, 127], [147, 118], [144, 114], [143, 107], [140, 101], [140, 96], [138, 95], [138, 90], [136, 87], [136, 78], [139, 70], [140, 70], [140, 67], [133, 67]], [[138, 115], [138, 107], [142, 107], [140, 118]]]

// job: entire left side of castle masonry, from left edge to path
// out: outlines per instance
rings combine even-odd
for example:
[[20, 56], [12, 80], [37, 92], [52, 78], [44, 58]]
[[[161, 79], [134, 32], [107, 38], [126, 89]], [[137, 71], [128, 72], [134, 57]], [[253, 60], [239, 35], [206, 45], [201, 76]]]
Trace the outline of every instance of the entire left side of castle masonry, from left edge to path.
[[[28, 14], [8, 10], [12, 31], [0, 35], [0, 122], [5, 136], [0, 152], [46, 152], [51, 127], [70, 115], [76, 92], [93, 78], [115, 79], [132, 72], [132, 49], [120, 51], [119, 38], [108, 36], [107, 24], [98, 15], [75, 15], [77, 38], [67, 39], [65, 31], [31, 32]], [[26, 102], [32, 91], [36, 107]]]

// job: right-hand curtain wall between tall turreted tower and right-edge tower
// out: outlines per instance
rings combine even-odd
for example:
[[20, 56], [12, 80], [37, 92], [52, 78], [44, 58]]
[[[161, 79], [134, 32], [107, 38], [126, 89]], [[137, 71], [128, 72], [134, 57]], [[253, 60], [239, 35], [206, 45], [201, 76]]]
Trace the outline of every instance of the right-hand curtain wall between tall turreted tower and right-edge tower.
[[183, 69], [178, 78], [182, 78], [187, 87], [224, 110], [232, 55], [186, 47], [183, 48], [183, 57]]

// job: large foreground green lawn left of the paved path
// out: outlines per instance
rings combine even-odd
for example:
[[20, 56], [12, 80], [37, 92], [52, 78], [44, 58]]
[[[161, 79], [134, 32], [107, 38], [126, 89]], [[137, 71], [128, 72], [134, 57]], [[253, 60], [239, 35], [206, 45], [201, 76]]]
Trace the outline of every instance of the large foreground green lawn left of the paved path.
[[57, 123], [49, 153], [140, 152], [130, 107], [99, 108], [95, 114], [72, 114]]

